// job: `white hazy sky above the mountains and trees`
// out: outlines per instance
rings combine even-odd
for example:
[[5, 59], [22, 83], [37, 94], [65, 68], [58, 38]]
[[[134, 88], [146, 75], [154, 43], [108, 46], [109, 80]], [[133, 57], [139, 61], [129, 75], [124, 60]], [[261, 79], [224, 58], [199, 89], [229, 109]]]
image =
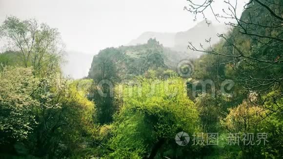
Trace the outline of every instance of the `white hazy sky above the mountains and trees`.
[[[215, 4], [218, 10], [221, 1]], [[5, 16], [35, 18], [59, 29], [67, 51], [97, 54], [145, 31], [188, 30], [196, 22], [183, 11], [186, 4], [186, 0], [0, 0], [0, 22]]]

